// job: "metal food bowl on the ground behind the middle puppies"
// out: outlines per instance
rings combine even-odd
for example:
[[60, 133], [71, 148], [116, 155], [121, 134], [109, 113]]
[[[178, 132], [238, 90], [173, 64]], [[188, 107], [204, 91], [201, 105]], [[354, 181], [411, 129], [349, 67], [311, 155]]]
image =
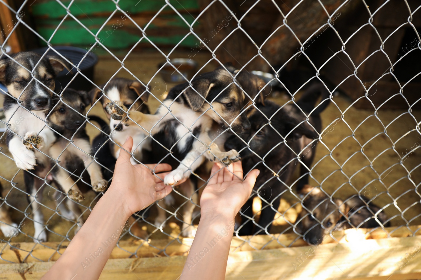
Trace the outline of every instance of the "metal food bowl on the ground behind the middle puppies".
[[196, 73], [197, 69], [197, 62], [192, 59], [187, 58], [174, 58], [170, 60], [171, 64], [175, 66], [175, 68], [178, 69], [178, 71], [183, 74], [181, 76], [179, 72], [174, 69], [173, 66], [171, 66], [168, 62], [162, 62], [158, 64], [158, 69], [160, 70], [162, 79], [166, 82], [170, 83], [179, 83], [179, 82], [185, 82], [186, 79], [192, 79], [193, 75]]

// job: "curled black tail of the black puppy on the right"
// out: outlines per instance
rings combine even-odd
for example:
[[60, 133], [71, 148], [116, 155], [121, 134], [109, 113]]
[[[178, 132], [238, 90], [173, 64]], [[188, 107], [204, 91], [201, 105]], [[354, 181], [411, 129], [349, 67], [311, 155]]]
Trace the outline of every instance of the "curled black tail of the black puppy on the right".
[[312, 115], [320, 115], [326, 107], [330, 104], [330, 94], [322, 83], [313, 83], [300, 99], [297, 101], [297, 105], [306, 112], [311, 112], [316, 107], [316, 102], [319, 97], [322, 97], [322, 101], [317, 105], [317, 108], [313, 111]]

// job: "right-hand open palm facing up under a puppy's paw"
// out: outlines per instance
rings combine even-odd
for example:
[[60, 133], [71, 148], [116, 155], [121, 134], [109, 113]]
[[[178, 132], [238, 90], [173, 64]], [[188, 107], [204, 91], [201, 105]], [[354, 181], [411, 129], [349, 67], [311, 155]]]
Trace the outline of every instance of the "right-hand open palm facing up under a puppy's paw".
[[228, 167], [215, 163], [210, 173], [208, 186], [205, 187], [200, 197], [201, 216], [228, 215], [233, 220], [242, 205], [250, 197], [259, 173], [259, 170], [254, 169], [242, 181], [241, 162], [234, 162]]

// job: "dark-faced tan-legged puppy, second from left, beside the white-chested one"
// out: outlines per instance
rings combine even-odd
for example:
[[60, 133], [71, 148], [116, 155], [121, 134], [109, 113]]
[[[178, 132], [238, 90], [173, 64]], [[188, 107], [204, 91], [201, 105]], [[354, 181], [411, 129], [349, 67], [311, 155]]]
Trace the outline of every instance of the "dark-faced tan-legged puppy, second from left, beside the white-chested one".
[[[91, 104], [88, 93], [74, 89], [66, 89], [63, 98], [51, 111], [48, 120], [56, 133], [56, 141], [50, 147], [50, 155], [54, 165], [51, 174], [54, 182], [74, 201], [83, 201], [83, 192], [87, 184], [96, 192], [105, 191], [108, 182], [102, 178], [101, 167], [91, 156], [91, 144], [86, 134], [85, 109]], [[88, 175], [83, 172], [87, 170]], [[70, 172], [70, 174], [69, 174]], [[84, 173], [84, 174], [83, 174]], [[81, 177], [81, 180], [77, 180]], [[77, 183], [74, 181], [77, 180]], [[87, 180], [87, 181], [85, 181]], [[79, 186], [82, 185], [82, 190]], [[60, 194], [55, 192], [54, 194]], [[75, 202], [66, 199], [67, 210], [63, 203], [58, 205], [61, 215], [69, 220], [77, 219], [78, 227], [82, 227], [82, 212]], [[55, 199], [55, 201], [59, 201]]]

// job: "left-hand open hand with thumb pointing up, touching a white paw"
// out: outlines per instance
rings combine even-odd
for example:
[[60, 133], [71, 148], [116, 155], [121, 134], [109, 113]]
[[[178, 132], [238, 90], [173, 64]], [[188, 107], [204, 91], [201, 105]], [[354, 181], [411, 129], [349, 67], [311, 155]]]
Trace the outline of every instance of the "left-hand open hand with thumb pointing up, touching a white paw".
[[130, 136], [122, 147], [107, 193], [112, 193], [116, 199], [124, 201], [126, 214], [130, 216], [171, 193], [172, 187], [163, 183], [163, 178], [171, 170], [171, 165], [166, 163], [146, 165], [155, 173], [159, 173], [155, 175], [144, 165], [131, 164], [131, 154], [126, 152], [131, 151], [133, 147], [133, 139]]

